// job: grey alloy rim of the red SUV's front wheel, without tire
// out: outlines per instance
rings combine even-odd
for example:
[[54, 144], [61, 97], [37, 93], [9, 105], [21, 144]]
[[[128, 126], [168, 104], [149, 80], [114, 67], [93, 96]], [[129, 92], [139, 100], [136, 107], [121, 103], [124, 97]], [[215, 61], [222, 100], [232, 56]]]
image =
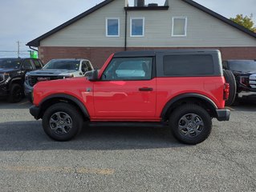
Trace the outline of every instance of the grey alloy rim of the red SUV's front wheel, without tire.
[[72, 129], [72, 118], [65, 112], [52, 114], [49, 123], [55, 134], [68, 134]]

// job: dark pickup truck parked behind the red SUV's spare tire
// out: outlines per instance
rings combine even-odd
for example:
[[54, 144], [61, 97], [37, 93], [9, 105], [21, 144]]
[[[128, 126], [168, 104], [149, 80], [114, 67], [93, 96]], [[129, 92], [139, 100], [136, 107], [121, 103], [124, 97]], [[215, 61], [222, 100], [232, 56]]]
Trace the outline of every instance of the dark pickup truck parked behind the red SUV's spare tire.
[[254, 60], [227, 60], [223, 68], [234, 74], [236, 98], [256, 102], [256, 62]]

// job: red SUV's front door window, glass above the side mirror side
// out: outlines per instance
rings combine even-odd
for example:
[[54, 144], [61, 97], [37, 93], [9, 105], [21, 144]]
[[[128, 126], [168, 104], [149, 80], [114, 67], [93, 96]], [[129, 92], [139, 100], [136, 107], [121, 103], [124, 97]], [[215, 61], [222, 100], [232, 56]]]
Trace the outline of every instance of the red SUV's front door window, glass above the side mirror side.
[[152, 78], [152, 58], [113, 58], [102, 80], [149, 80]]

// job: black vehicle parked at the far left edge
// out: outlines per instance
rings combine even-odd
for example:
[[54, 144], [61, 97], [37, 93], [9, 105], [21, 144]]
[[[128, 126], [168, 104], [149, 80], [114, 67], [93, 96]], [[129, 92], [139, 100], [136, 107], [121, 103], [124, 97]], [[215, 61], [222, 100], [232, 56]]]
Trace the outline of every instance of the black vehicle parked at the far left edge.
[[36, 58], [0, 58], [0, 97], [20, 102], [24, 96], [26, 72], [42, 67], [43, 63]]

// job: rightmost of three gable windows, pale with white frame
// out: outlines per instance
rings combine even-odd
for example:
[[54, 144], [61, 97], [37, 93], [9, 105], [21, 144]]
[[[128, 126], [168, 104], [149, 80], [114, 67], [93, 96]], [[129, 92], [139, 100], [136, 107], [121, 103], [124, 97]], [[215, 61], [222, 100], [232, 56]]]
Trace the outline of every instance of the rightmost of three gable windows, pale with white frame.
[[172, 36], [187, 36], [187, 18], [173, 18]]

